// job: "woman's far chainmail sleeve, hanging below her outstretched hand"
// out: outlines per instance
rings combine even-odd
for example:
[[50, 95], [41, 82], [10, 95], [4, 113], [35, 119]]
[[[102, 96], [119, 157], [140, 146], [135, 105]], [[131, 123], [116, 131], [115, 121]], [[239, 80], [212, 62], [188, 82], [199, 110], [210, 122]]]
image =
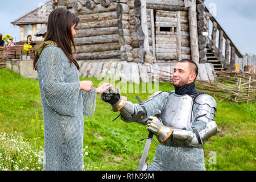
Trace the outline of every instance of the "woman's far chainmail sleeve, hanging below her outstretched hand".
[[83, 113], [88, 117], [92, 117], [96, 106], [96, 88], [93, 88], [90, 92], [81, 90], [81, 93]]

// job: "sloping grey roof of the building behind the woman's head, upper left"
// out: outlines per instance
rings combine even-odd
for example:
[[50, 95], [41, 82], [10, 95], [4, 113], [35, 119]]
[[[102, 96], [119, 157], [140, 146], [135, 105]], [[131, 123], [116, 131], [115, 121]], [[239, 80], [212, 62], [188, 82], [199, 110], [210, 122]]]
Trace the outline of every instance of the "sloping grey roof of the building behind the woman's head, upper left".
[[52, 1], [48, 0], [43, 5], [11, 22], [14, 25], [47, 23], [48, 16], [52, 11]]

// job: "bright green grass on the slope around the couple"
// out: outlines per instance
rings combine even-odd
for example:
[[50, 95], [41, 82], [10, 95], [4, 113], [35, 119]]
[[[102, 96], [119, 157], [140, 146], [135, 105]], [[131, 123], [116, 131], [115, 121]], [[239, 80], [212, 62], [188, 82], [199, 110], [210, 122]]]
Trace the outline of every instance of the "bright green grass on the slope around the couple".
[[[94, 87], [101, 82], [96, 78], [80, 78], [81, 80], [92, 80]], [[159, 90], [173, 89], [169, 84], [159, 84]], [[129, 101], [137, 103], [136, 95], [143, 101], [147, 100], [150, 94], [122, 95], [127, 96]], [[255, 170], [255, 104], [230, 104], [217, 99], [216, 101], [218, 104], [216, 122], [221, 132], [205, 144], [205, 167], [207, 170]], [[125, 123], [119, 118], [112, 122], [117, 115], [118, 113], [113, 113], [111, 106], [102, 102], [100, 95], [97, 95], [93, 117], [84, 117], [86, 170], [137, 169], [145, 143], [139, 139], [146, 137], [148, 131], [146, 126]], [[35, 151], [40, 151], [40, 147], [43, 147], [42, 125], [38, 80], [22, 78], [5, 68], [0, 69], [0, 133], [11, 135], [16, 131], [15, 135], [22, 136], [35, 148]], [[154, 139], [156, 140], [155, 137]], [[152, 163], [155, 156], [155, 148], [156, 146], [152, 144], [147, 157], [149, 163]], [[0, 164], [7, 166], [7, 163], [9, 164], [13, 159], [9, 162], [2, 160]], [[23, 161], [23, 166], [28, 163], [25, 157], [19, 160]], [[42, 169], [42, 164], [37, 165]], [[9, 168], [14, 169], [14, 167]], [[31, 169], [38, 168], [31, 166]]]

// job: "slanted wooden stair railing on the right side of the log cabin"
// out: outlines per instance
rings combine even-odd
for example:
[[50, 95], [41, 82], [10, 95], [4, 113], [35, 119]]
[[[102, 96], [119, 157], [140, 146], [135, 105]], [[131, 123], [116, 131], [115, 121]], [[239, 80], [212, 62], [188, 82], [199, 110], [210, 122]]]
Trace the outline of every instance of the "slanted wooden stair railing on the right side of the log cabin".
[[[213, 54], [217, 57], [220, 63], [226, 70], [234, 71], [236, 69], [236, 55], [239, 58], [242, 58], [241, 52], [237, 49], [235, 44], [229, 38], [228, 34], [224, 31], [224, 29], [220, 26], [217, 20], [214, 18], [212, 14], [210, 14], [207, 7], [205, 7], [205, 13], [208, 16], [208, 20], [210, 20], [213, 24], [212, 26], [212, 38], [209, 37], [208, 48], [213, 52]], [[209, 23], [208, 23], [209, 24]], [[209, 28], [209, 27], [208, 27]], [[218, 45], [217, 43], [217, 30], [219, 32], [218, 35]], [[222, 51], [224, 49], [224, 39], [225, 39], [225, 52]]]

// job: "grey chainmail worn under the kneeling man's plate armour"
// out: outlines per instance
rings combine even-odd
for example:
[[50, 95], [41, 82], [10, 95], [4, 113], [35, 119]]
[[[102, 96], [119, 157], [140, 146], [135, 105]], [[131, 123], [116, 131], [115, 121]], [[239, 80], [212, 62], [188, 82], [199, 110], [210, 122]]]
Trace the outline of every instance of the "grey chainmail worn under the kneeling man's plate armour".
[[[171, 94], [175, 94], [175, 92], [172, 91]], [[156, 109], [162, 110], [169, 96], [170, 92], [162, 92], [144, 101], [147, 116], [155, 116]], [[139, 104], [134, 104], [134, 107], [135, 113], [143, 110]], [[197, 116], [198, 107], [199, 105], [195, 103], [193, 107], [195, 117]], [[205, 129], [206, 123], [197, 120], [193, 122], [192, 126], [200, 132]], [[185, 129], [193, 131], [191, 127]], [[156, 147], [153, 163], [147, 168], [147, 171], [205, 171], [203, 148], [170, 147], [160, 143]]]

